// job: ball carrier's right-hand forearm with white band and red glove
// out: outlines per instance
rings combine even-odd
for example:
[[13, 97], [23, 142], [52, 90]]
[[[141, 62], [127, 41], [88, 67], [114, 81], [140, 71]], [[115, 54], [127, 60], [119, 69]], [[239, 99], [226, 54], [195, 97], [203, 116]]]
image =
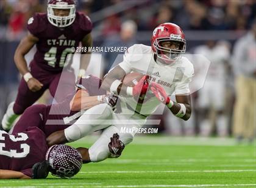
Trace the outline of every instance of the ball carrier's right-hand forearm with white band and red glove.
[[183, 120], [188, 120], [191, 115], [191, 97], [187, 95], [176, 95], [176, 102], [171, 101], [168, 95], [166, 95], [165, 89], [159, 84], [152, 82], [151, 91], [157, 97], [157, 99], [165, 104], [171, 112]]

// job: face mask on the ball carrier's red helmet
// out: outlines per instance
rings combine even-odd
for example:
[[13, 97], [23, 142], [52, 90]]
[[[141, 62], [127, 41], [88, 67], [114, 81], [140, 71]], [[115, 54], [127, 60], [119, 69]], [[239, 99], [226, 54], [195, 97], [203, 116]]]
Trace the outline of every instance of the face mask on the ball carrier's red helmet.
[[[163, 45], [166, 42], [169, 45]], [[180, 60], [181, 54], [186, 51], [185, 39], [158, 38], [155, 40], [154, 46], [157, 58], [165, 64]]]

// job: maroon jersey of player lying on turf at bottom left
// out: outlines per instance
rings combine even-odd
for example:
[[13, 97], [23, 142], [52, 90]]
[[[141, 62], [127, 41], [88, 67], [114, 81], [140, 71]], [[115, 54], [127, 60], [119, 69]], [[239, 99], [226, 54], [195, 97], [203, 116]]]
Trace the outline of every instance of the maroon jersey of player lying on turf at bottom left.
[[0, 169], [32, 176], [32, 166], [45, 159], [47, 150], [45, 135], [38, 127], [14, 135], [0, 130]]

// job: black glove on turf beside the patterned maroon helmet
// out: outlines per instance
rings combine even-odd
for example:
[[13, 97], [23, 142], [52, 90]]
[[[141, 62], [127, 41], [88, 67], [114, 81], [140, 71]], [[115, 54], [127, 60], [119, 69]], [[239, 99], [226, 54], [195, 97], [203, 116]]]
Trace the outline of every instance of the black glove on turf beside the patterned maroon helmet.
[[49, 173], [49, 162], [35, 163], [32, 167], [32, 179], [45, 179]]

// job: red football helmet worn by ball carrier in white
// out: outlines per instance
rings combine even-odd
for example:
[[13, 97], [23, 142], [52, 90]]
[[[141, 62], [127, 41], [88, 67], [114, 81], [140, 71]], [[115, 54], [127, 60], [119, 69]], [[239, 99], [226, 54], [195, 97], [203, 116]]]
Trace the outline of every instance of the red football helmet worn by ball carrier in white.
[[[163, 47], [162, 42], [175, 42], [177, 48], [171, 49]], [[185, 35], [176, 24], [164, 23], [158, 25], [151, 38], [151, 47], [157, 58], [160, 58], [166, 64], [170, 64], [181, 58], [181, 54], [186, 52]]]

